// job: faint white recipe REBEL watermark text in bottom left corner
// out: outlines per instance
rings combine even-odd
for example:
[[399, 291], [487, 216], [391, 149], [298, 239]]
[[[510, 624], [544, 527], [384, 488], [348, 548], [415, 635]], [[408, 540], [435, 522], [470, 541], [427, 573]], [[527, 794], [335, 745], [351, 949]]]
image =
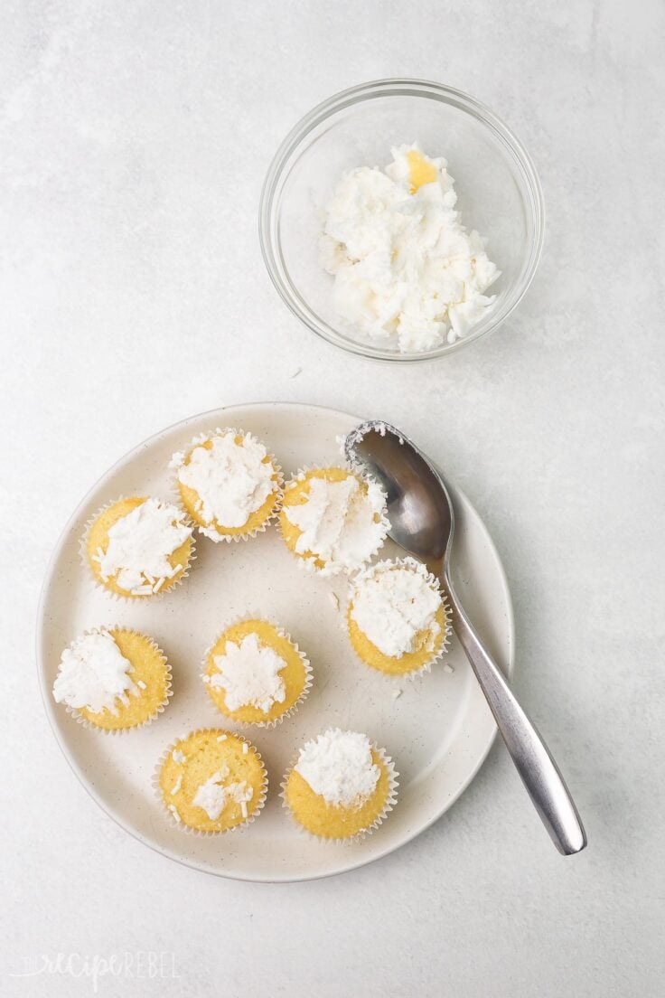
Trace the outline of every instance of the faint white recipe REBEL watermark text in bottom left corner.
[[94, 994], [99, 992], [103, 977], [134, 978], [136, 980], [165, 980], [180, 975], [175, 967], [175, 954], [157, 952], [155, 950], [137, 950], [136, 952], [99, 953], [87, 955], [81, 953], [43, 953], [36, 965], [26, 960], [26, 968], [10, 972], [14, 978], [32, 978], [50, 975], [61, 977], [84, 978], [90, 981]]

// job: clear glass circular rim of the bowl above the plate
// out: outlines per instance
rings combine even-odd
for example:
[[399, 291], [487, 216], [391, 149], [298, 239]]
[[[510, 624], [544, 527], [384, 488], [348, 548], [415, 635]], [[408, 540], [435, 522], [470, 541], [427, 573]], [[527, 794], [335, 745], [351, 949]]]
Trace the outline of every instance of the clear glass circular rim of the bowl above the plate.
[[[528, 250], [526, 266], [507, 304], [496, 315], [491, 314], [485, 324], [484, 322], [479, 323], [477, 329], [472, 330], [468, 336], [458, 338], [454, 343], [442, 343], [432, 350], [425, 350], [420, 353], [396, 353], [394, 350], [386, 350], [369, 342], [362, 343], [354, 341], [322, 319], [307, 303], [290, 278], [285, 276], [288, 275], [288, 268], [279, 250], [278, 240], [275, 238], [275, 223], [277, 221], [273, 217], [275, 198], [279, 192], [282, 180], [285, 179], [285, 169], [291, 161], [295, 162], [294, 154], [297, 153], [303, 140], [322, 122], [339, 111], [343, 111], [345, 108], [353, 107], [367, 100], [392, 96], [422, 97], [449, 104], [467, 114], [471, 114], [481, 124], [489, 127], [510, 155], [522, 177], [528, 195], [527, 210], [530, 209], [529, 214], [533, 226], [533, 236]], [[414, 361], [433, 360], [448, 356], [456, 350], [476, 342], [494, 329], [499, 328], [499, 325], [505, 321], [519, 301], [521, 301], [533, 280], [542, 254], [544, 230], [542, 188], [531, 157], [511, 129], [508, 128], [488, 105], [478, 101], [470, 94], [462, 90], [457, 90], [454, 87], [449, 87], [447, 84], [409, 77], [371, 80], [366, 83], [357, 84], [333, 94], [308, 111], [296, 122], [278, 146], [263, 181], [258, 208], [258, 237], [263, 262], [268, 271], [268, 276], [289, 310], [307, 328], [311, 329], [312, 332], [316, 333], [317, 336], [320, 336], [326, 342], [341, 347], [357, 356], [385, 360], [392, 363], [396, 361], [398, 363], [412, 363]]]

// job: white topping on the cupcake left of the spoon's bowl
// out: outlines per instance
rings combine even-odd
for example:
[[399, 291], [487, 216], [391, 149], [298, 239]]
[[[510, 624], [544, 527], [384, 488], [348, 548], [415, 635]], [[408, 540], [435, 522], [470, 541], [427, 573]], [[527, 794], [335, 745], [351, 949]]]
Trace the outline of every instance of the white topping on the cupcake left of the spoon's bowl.
[[309, 478], [305, 501], [285, 503], [284, 515], [300, 530], [296, 552], [323, 562], [323, 575], [361, 568], [388, 532], [383, 489], [353, 472], [338, 482]]

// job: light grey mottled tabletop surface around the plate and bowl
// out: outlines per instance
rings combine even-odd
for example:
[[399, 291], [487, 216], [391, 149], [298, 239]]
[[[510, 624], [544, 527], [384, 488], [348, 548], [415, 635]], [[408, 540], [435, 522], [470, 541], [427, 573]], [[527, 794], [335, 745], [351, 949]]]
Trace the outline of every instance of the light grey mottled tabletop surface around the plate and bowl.
[[[100, 994], [662, 993], [662, 6], [445, 7], [2, 9], [3, 994], [91, 994], [90, 979], [9, 975], [41, 954], [126, 951], [172, 952], [178, 978], [102, 977]], [[301, 329], [255, 232], [285, 131], [388, 75], [490, 104], [531, 151], [548, 219], [508, 324], [409, 369]], [[272, 398], [403, 424], [466, 489], [508, 573], [516, 686], [576, 794], [585, 853], [554, 851], [500, 747], [416, 842], [288, 887], [175, 866], [75, 781], [33, 666], [62, 524], [141, 438]]]

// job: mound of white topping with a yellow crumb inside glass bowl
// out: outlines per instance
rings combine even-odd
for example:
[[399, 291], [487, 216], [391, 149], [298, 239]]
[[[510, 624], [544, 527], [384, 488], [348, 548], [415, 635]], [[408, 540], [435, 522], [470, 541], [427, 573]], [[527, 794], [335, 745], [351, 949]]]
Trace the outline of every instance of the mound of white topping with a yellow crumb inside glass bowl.
[[321, 260], [342, 318], [375, 342], [420, 353], [467, 335], [495, 301], [486, 291], [500, 270], [487, 240], [462, 224], [446, 160], [417, 143], [391, 152], [385, 170], [358, 167], [338, 182]]

